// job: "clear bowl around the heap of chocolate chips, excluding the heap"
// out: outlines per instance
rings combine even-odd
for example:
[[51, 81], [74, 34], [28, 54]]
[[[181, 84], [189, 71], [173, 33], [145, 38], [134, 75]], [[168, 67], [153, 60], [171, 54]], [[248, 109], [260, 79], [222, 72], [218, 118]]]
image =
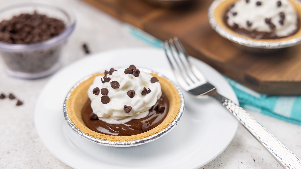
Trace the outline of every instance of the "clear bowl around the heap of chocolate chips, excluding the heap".
[[0, 41], [0, 55], [6, 73], [16, 78], [42, 78], [60, 69], [62, 49], [75, 28], [75, 17], [69, 11], [36, 3], [2, 8], [0, 10], [0, 22], [10, 20], [13, 16], [20, 14], [33, 14], [34, 11], [38, 14], [45, 14], [47, 17], [62, 20], [65, 24], [65, 30], [46, 41], [34, 44], [11, 44]]

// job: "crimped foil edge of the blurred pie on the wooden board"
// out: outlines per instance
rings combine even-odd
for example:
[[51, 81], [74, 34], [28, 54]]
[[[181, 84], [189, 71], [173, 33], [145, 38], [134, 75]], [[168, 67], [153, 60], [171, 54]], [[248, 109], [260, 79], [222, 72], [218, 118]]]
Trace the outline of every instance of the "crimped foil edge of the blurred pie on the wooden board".
[[[244, 45], [244, 46], [247, 46], [250, 48], [262, 48], [262, 49], [287, 48], [287, 47], [291, 47], [291, 46], [301, 43], [301, 36], [292, 38], [292, 39], [289, 39], [286, 41], [266, 42], [266, 41], [254, 41], [252, 39], [246, 39], [246, 38], [236, 36], [228, 31], [226, 31], [216, 22], [216, 19], [214, 17], [214, 11], [215, 11], [216, 7], [223, 1], [226, 1], [226, 0], [215, 0], [210, 5], [209, 11], [208, 11], [210, 26], [222, 37], [224, 37], [230, 41], [236, 42], [240, 45]], [[292, 0], [292, 1], [296, 2], [297, 4], [299, 4], [301, 6], [301, 2], [296, 1], [296, 0]]]

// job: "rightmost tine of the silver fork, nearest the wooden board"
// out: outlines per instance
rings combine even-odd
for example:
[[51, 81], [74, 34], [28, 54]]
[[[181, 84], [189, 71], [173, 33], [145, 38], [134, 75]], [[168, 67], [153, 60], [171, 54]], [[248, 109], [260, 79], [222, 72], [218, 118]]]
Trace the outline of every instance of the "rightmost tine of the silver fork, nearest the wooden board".
[[196, 77], [198, 79], [198, 81], [203, 81], [203, 79], [205, 79], [205, 77], [203, 76], [203, 73], [201, 73], [200, 70], [194, 66], [194, 64], [190, 63], [190, 61], [188, 60], [189, 54], [183, 47], [182, 43], [179, 41], [178, 37], [175, 36], [173, 39], [175, 41], [175, 44], [176, 44], [178, 50], [184, 55], [185, 59], [183, 59], [182, 61], [186, 64], [186, 68], [187, 68], [188, 72], [190, 72], [192, 75], [194, 75], [194, 77]]

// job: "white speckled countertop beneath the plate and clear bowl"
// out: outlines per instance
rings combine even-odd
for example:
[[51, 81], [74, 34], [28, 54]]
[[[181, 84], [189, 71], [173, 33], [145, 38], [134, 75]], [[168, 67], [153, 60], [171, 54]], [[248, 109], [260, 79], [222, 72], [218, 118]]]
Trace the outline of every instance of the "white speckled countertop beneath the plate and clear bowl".
[[[1, 8], [20, 2], [25, 1], [0, 0]], [[125, 23], [85, 2], [79, 0], [44, 0], [43, 2], [68, 7], [76, 14], [78, 24], [64, 51], [62, 58], [64, 65], [85, 57], [83, 43], [87, 43], [91, 53], [116, 48], [151, 47], [131, 35]], [[5, 75], [2, 61], [0, 62], [0, 93], [6, 95], [13, 93], [24, 101], [23, 105], [16, 106], [17, 100], [0, 100], [0, 168], [70, 168], [48, 151], [34, 126], [35, 103], [49, 77], [39, 80], [11, 78]], [[301, 157], [301, 126], [257, 112], [249, 112], [298, 157]], [[282, 167], [239, 125], [234, 139], [225, 151], [201, 168], [281, 169]]]

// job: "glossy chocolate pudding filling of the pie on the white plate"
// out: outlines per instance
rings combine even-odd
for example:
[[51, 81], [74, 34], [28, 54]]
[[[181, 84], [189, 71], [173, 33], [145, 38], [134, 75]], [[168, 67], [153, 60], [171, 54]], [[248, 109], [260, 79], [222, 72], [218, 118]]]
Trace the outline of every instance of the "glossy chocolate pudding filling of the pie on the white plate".
[[[132, 119], [123, 124], [110, 124], [102, 120], [94, 120], [94, 118], [91, 118], [91, 116], [95, 114], [90, 105], [91, 100], [88, 99], [82, 108], [82, 119], [86, 126], [95, 132], [113, 136], [131, 136], [151, 130], [165, 119], [169, 110], [167, 97], [162, 93], [162, 96], [157, 100], [157, 103], [151, 107], [146, 117]], [[165, 109], [163, 109], [164, 107]]]

